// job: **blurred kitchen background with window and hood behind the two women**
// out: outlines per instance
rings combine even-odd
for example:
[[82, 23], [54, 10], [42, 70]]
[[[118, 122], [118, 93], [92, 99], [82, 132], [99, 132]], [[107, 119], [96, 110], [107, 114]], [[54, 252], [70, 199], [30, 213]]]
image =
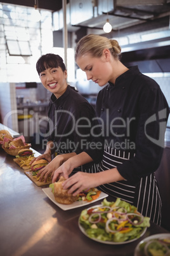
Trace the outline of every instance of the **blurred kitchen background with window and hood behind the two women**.
[[[101, 88], [74, 60], [77, 41], [91, 33], [117, 39], [122, 62], [154, 78], [170, 104], [169, 13], [169, 0], [0, 1], [0, 122], [42, 150], [51, 94], [40, 83], [36, 62], [46, 53], [63, 57], [68, 83], [95, 108]], [[106, 22], [110, 32], [103, 31]], [[168, 121], [167, 146], [169, 131]]]

